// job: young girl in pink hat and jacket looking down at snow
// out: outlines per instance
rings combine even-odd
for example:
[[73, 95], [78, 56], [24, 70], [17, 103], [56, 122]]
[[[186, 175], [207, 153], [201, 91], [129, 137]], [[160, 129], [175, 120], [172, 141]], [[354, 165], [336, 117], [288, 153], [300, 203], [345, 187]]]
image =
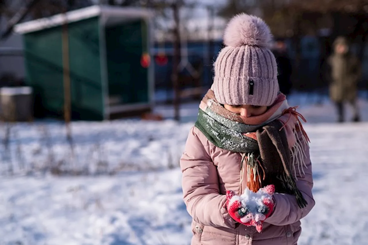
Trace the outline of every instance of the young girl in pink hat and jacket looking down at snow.
[[279, 92], [271, 39], [246, 14], [225, 30], [180, 160], [192, 245], [297, 244], [314, 206], [309, 139]]

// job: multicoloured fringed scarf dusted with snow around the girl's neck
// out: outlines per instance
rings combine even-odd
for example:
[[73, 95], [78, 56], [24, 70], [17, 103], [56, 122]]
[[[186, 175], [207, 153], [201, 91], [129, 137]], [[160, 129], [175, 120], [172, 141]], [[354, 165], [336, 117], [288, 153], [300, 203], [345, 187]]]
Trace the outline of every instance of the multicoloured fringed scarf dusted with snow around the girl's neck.
[[302, 132], [305, 143], [309, 138], [298, 116], [305, 121], [296, 108], [289, 107], [283, 94], [279, 94], [264, 114], [245, 118], [225, 109], [209, 90], [199, 105], [195, 126], [217, 147], [243, 156], [241, 171], [247, 167], [250, 190], [257, 192], [273, 184], [276, 192], [295, 195], [303, 208], [307, 202], [294, 180], [297, 169], [301, 174], [306, 167], [298, 131]]

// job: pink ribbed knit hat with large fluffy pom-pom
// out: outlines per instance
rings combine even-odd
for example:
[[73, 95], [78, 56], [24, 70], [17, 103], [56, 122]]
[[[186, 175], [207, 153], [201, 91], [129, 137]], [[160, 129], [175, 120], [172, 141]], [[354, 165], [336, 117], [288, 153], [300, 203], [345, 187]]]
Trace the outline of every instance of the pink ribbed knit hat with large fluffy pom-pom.
[[211, 89], [216, 100], [229, 105], [272, 105], [279, 92], [272, 34], [260, 18], [239, 14], [224, 33], [224, 47], [214, 64]]

